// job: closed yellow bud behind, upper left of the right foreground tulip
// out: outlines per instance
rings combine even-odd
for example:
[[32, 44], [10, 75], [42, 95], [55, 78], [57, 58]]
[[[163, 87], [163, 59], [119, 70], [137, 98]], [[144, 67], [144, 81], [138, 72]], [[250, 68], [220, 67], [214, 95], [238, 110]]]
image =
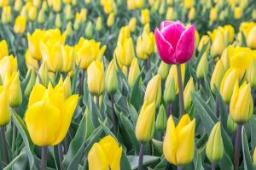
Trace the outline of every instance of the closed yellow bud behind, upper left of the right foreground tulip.
[[230, 99], [233, 94], [233, 89], [238, 78], [238, 72], [235, 69], [229, 69], [220, 84], [220, 94], [226, 104], [230, 104]]

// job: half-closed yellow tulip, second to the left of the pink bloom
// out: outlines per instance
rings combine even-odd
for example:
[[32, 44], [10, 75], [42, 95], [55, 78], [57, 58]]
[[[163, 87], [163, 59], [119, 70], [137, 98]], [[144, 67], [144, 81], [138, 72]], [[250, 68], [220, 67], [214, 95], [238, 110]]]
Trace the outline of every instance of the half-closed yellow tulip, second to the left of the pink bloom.
[[115, 54], [121, 65], [130, 66], [132, 59], [135, 57], [133, 41], [131, 37], [125, 39], [123, 44], [120, 42], [115, 49]]

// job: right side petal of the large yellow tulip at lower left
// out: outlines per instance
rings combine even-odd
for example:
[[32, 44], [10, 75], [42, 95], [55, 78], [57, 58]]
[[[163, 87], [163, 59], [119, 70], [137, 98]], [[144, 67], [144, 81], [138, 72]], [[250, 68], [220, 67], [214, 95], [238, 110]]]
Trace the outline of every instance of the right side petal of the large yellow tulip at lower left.
[[54, 144], [59, 144], [67, 135], [68, 128], [70, 126], [73, 113], [78, 104], [79, 95], [72, 95], [68, 99], [66, 99], [61, 105], [61, 119], [59, 122], [61, 123], [58, 134], [55, 138]]

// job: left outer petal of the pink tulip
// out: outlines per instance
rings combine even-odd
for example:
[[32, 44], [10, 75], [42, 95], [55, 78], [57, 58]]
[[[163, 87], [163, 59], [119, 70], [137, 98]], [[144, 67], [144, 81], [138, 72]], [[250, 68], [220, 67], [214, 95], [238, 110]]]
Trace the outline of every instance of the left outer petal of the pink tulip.
[[154, 29], [154, 37], [160, 58], [167, 64], [176, 64], [172, 44], [165, 40], [158, 28]]

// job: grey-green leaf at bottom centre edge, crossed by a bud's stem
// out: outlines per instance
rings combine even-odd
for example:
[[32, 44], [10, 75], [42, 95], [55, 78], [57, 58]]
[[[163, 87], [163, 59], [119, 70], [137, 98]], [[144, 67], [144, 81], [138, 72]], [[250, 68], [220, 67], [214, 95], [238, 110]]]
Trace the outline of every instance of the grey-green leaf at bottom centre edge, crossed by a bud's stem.
[[[127, 156], [128, 160], [131, 164], [131, 169], [137, 169], [139, 156]], [[160, 157], [158, 156], [143, 156], [143, 166], [149, 165], [158, 161]]]

